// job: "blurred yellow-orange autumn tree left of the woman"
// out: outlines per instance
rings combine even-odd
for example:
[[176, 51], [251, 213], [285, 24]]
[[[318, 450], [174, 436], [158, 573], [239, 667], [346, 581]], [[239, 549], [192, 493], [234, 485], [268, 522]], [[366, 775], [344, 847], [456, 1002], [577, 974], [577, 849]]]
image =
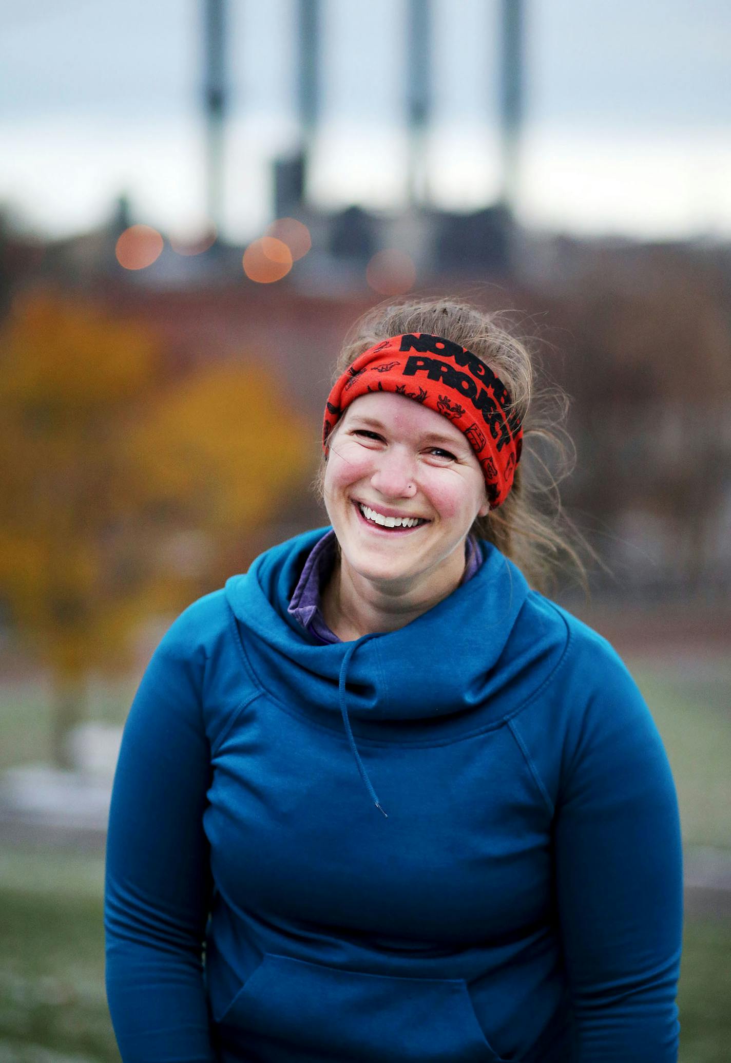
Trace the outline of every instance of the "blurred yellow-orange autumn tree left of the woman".
[[17, 301], [0, 335], [0, 597], [51, 669], [60, 765], [88, 672], [185, 604], [308, 463], [268, 373], [167, 379], [158, 354], [149, 328], [50, 292]]

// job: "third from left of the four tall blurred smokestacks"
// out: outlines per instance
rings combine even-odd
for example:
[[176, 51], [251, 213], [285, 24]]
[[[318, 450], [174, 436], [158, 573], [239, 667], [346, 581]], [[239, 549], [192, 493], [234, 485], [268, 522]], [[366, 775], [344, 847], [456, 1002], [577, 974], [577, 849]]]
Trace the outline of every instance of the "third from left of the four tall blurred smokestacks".
[[408, 135], [408, 186], [410, 205], [427, 199], [426, 130], [431, 115], [430, 44], [431, 0], [408, 0], [406, 12], [406, 123]]

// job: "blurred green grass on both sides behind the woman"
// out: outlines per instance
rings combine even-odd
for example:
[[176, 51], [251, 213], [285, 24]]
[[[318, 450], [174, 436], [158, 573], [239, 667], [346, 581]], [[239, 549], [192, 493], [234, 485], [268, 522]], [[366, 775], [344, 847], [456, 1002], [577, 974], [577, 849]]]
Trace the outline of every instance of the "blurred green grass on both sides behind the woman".
[[[686, 845], [731, 851], [731, 665], [638, 663], [668, 752]], [[97, 719], [121, 719], [128, 693], [97, 692]], [[0, 709], [0, 766], [41, 759], [48, 694], [15, 685]], [[104, 998], [100, 856], [0, 849], [0, 1060], [119, 1061]], [[731, 1058], [731, 917], [685, 924], [681, 1063]]]

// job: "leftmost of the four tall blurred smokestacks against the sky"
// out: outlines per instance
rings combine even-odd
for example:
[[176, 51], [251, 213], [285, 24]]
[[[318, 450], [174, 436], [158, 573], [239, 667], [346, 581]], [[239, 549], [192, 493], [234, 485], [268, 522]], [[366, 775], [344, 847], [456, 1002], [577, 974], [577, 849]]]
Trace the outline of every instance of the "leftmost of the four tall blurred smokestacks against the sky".
[[206, 208], [220, 233], [223, 224], [223, 124], [227, 104], [225, 0], [203, 0], [205, 40]]

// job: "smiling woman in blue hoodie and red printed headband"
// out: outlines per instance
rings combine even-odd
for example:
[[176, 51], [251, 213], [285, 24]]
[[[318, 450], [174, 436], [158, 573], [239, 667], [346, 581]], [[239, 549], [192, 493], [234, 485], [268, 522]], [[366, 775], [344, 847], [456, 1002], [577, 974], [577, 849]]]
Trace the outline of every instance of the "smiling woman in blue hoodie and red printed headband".
[[495, 318], [372, 311], [325, 404], [332, 526], [163, 639], [109, 819], [124, 1063], [676, 1060], [675, 787], [538, 589], [531, 391]]

